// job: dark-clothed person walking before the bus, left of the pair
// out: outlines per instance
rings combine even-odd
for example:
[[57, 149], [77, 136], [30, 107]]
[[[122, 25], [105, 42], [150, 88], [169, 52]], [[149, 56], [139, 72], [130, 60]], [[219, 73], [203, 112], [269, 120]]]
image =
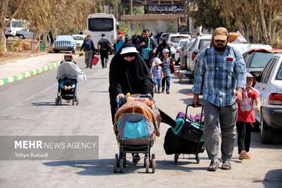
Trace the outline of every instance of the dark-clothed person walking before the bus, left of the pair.
[[87, 35], [86, 39], [83, 41], [80, 51], [82, 51], [82, 49], [85, 51], [86, 68], [92, 68], [92, 58], [94, 56], [95, 47], [90, 35]]

